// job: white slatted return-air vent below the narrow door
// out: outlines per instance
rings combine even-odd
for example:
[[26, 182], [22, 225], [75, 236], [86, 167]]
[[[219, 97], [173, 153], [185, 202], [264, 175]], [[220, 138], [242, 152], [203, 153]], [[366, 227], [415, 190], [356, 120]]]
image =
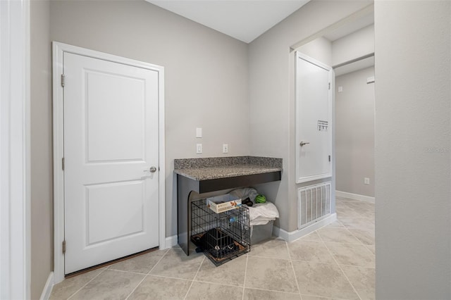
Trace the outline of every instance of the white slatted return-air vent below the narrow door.
[[330, 182], [297, 189], [297, 207], [298, 229], [330, 215]]

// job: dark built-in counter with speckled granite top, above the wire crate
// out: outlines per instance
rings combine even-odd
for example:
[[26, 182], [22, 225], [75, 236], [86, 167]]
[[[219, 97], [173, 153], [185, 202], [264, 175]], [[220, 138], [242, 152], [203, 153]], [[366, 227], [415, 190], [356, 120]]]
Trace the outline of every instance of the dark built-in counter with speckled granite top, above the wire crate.
[[[177, 239], [190, 255], [191, 206], [201, 195], [281, 179], [282, 158], [233, 156], [174, 160], [177, 174]], [[193, 193], [194, 192], [194, 193]]]

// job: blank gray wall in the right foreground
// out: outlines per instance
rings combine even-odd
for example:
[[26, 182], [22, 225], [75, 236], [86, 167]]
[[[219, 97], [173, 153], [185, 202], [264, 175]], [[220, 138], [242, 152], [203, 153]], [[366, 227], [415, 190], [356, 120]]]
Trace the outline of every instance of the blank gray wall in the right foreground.
[[375, 1], [377, 299], [451, 299], [450, 16]]

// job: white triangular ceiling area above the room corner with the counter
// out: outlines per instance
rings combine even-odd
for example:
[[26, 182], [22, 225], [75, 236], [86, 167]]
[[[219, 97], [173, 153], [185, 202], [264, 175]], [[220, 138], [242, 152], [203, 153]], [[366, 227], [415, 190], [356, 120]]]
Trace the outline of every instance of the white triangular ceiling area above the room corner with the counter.
[[250, 43], [309, 0], [146, 0]]

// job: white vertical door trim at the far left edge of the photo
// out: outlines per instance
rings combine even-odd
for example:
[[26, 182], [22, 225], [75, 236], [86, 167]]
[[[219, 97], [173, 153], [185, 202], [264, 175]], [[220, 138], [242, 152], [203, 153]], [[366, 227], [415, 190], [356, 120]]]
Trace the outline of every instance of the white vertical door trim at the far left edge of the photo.
[[0, 1], [0, 299], [30, 299], [30, 1]]

